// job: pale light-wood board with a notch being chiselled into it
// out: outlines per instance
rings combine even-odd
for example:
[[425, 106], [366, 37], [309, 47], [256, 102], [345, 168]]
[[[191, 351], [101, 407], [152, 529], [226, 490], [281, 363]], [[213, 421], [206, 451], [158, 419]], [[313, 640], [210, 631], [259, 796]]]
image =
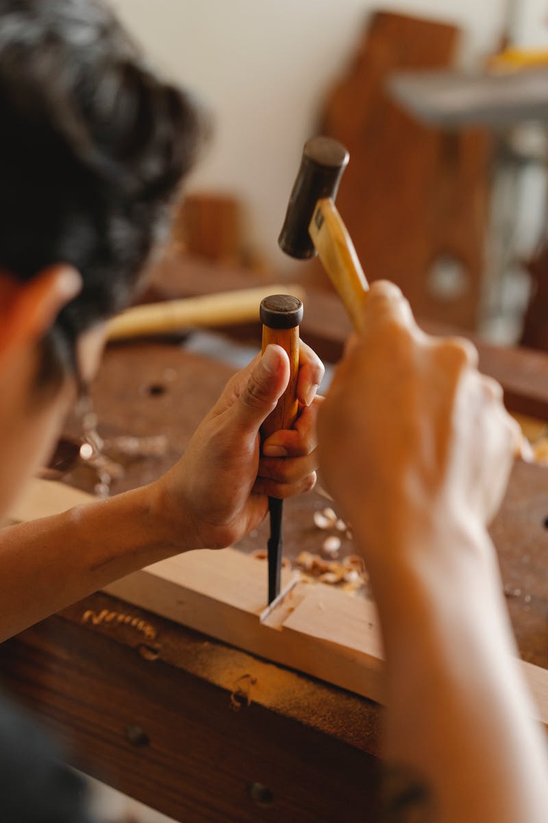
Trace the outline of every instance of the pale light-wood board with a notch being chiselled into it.
[[[91, 495], [53, 481], [33, 481], [13, 518], [57, 514]], [[282, 586], [292, 579], [283, 571]], [[299, 582], [267, 618], [265, 560], [228, 548], [191, 551], [128, 575], [107, 593], [371, 700], [384, 702], [384, 660], [373, 603], [325, 584]], [[520, 662], [548, 726], [548, 671]]]

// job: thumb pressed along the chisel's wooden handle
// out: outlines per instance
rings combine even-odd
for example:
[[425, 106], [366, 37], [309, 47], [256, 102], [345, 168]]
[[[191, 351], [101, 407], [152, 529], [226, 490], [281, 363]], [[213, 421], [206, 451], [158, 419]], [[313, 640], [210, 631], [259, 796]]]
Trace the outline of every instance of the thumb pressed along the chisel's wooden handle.
[[289, 358], [282, 346], [269, 345], [238, 394], [233, 412], [255, 435], [276, 407], [289, 382]]

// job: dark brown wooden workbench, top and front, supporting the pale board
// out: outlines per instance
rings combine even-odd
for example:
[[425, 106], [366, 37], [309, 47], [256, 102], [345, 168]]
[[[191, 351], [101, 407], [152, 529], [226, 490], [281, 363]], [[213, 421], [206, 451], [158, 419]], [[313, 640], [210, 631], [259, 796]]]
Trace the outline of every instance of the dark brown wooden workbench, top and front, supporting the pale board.
[[[512, 357], [501, 353], [495, 369], [500, 377], [507, 358], [510, 383], [523, 375]], [[533, 360], [544, 402], [548, 366]], [[161, 458], [128, 462], [113, 491], [171, 465], [231, 373], [173, 345], [111, 348], [94, 386], [101, 434], [165, 434], [169, 444]], [[88, 471], [71, 481], [89, 488]], [[320, 550], [312, 514], [325, 504], [316, 492], [288, 502], [288, 556]], [[492, 534], [520, 652], [548, 668], [546, 518], [548, 472], [518, 464]], [[264, 526], [242, 550], [265, 536]], [[122, 625], [118, 614], [138, 620]], [[95, 594], [2, 644], [0, 671], [72, 762], [184, 823], [375, 820], [379, 706], [113, 597]]]

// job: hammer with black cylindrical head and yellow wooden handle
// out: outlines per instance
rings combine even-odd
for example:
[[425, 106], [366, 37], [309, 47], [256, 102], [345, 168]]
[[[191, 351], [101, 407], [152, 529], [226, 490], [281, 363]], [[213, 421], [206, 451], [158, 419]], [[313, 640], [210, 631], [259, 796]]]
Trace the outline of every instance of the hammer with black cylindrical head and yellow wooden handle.
[[278, 242], [293, 258], [306, 259], [318, 253], [353, 327], [359, 331], [361, 306], [369, 286], [334, 204], [348, 158], [345, 147], [331, 137], [312, 137], [306, 142]]

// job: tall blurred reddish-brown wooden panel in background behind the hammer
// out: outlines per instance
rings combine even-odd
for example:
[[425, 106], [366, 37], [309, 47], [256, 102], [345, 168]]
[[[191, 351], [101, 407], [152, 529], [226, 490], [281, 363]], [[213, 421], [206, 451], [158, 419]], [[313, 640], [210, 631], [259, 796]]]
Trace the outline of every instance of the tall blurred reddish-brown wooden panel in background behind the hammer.
[[[476, 328], [489, 200], [490, 137], [417, 123], [389, 96], [397, 70], [447, 67], [455, 26], [377, 12], [320, 133], [350, 152], [337, 207], [366, 277], [398, 283], [422, 318]], [[325, 281], [318, 264], [309, 277]]]

